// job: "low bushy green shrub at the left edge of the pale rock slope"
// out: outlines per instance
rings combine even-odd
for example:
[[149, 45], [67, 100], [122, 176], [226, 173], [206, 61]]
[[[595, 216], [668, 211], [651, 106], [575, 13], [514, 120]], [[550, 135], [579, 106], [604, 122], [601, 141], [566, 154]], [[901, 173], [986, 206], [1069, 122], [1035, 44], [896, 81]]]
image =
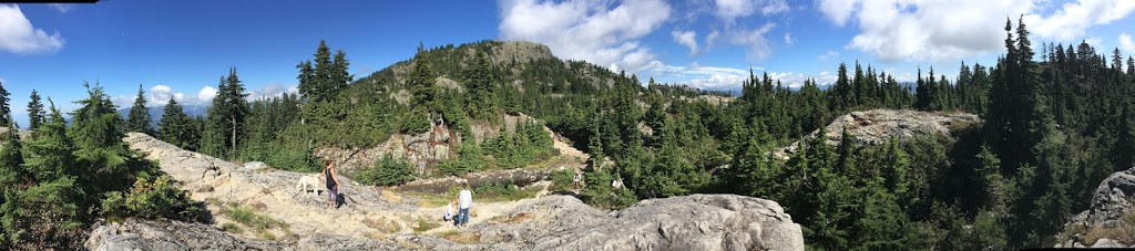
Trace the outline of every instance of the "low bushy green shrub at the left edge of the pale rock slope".
[[138, 176], [129, 192], [112, 191], [102, 200], [103, 216], [109, 218], [173, 218], [199, 222], [204, 209], [186, 196], [168, 175], [149, 179]]

